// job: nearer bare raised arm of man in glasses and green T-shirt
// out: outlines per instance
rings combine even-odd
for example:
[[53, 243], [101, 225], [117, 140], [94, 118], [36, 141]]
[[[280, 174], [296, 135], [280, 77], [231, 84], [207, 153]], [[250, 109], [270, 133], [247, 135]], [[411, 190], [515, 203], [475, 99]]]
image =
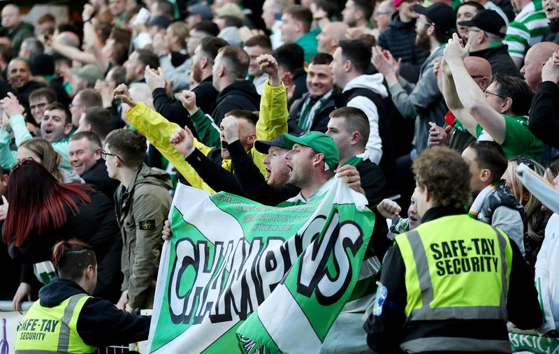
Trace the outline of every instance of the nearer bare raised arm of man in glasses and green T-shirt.
[[[456, 93], [465, 110], [491, 135], [495, 142], [502, 144], [506, 132], [504, 117], [491, 108], [485, 98], [484, 91], [481, 91], [474, 79], [470, 77], [470, 73], [467, 72], [464, 57], [469, 49], [470, 45], [463, 47], [458, 35], [453, 34], [453, 38], [449, 40], [449, 44], [444, 49], [444, 60], [447, 61], [451, 70]], [[510, 98], [505, 99], [510, 100]], [[470, 131], [469, 128], [468, 131]]]

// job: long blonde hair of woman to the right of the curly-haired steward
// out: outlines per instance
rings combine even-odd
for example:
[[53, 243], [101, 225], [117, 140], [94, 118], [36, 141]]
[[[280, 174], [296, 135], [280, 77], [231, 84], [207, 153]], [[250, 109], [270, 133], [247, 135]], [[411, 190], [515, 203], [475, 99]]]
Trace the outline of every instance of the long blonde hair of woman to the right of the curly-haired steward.
[[[518, 202], [524, 207], [526, 212], [526, 218], [528, 219], [528, 237], [539, 240], [542, 236], [537, 235], [534, 228], [537, 223], [536, 212], [542, 207], [542, 202], [537, 200], [535, 196], [525, 189], [522, 182], [516, 175], [516, 169], [518, 168], [518, 163], [524, 163], [528, 165], [529, 168], [534, 170], [538, 175], [543, 176], [545, 173], [545, 168], [539, 163], [533, 161], [530, 158], [511, 158], [507, 166], [507, 171], [511, 177], [511, 193], [518, 200]], [[528, 194], [528, 200], [524, 200], [524, 194]]]

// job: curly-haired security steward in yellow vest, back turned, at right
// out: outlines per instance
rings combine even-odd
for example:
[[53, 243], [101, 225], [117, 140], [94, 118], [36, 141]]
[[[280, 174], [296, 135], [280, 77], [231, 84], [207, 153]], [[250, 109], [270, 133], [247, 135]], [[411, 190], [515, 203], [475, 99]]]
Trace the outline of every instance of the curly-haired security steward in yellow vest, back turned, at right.
[[511, 353], [507, 320], [542, 323], [514, 242], [465, 214], [470, 171], [458, 152], [426, 149], [413, 164], [421, 226], [398, 235], [382, 264], [365, 330], [376, 353]]

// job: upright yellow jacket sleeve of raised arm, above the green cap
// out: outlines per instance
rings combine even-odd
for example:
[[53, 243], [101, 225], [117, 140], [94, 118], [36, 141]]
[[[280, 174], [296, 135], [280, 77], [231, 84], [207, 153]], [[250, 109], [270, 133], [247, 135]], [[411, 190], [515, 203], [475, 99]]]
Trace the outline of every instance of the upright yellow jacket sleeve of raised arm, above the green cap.
[[[256, 138], [258, 140], [273, 140], [287, 133], [287, 94], [282, 82], [279, 86], [270, 86], [268, 80], [264, 83], [262, 98], [260, 99], [259, 119], [256, 123]], [[252, 161], [262, 175], [266, 176], [266, 166], [263, 161], [265, 154], [257, 152], [254, 147], [251, 150]]]

